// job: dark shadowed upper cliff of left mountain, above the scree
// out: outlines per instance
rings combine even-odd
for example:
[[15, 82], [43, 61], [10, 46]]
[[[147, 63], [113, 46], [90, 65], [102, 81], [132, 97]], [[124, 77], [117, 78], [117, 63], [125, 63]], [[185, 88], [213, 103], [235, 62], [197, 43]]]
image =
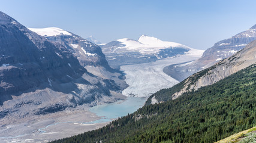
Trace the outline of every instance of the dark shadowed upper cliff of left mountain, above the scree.
[[[1, 95], [23, 92], [50, 82], [70, 82], [85, 73], [76, 58], [16, 20], [0, 13]], [[70, 77], [67, 77], [70, 76]]]

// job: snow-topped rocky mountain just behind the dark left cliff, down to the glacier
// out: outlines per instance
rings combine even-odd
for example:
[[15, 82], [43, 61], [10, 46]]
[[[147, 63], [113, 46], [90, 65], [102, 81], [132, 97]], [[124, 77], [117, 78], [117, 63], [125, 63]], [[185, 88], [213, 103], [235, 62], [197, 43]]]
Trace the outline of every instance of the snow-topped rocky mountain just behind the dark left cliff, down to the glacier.
[[103, 78], [104, 81], [108, 83], [107, 85], [109, 85], [109, 89], [121, 92], [122, 89], [127, 87], [127, 84], [122, 79], [121, 71], [112, 69], [109, 66], [100, 46], [95, 43], [89, 42], [74, 33], [57, 27], [29, 29], [38, 33], [38, 35], [44, 36], [50, 41], [65, 46], [75, 57], [77, 57], [80, 64], [85, 67], [86, 70]]

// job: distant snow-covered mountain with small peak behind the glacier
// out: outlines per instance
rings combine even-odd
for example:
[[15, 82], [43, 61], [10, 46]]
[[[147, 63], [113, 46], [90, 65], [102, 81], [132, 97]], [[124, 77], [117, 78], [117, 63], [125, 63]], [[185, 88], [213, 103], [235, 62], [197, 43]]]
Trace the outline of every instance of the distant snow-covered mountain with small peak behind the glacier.
[[175, 42], [161, 41], [141, 35], [138, 40], [118, 39], [101, 46], [110, 66], [118, 68], [128, 64], [147, 63], [167, 57], [188, 54], [200, 57], [203, 50], [192, 49]]

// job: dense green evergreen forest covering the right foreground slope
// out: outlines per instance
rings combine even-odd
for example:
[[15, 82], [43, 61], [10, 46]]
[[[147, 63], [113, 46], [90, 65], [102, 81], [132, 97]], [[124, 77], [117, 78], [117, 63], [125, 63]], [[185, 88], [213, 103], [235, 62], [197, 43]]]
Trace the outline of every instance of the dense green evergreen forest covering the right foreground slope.
[[53, 142], [215, 142], [255, 125], [254, 64], [176, 100], [145, 105], [104, 128]]

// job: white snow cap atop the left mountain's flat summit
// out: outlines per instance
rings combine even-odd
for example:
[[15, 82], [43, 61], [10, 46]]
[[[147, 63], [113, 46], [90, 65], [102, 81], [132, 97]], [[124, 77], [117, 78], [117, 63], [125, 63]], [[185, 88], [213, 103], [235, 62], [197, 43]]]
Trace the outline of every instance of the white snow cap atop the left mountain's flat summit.
[[60, 29], [58, 27], [47, 27], [42, 29], [35, 29], [35, 28], [28, 28], [32, 32], [37, 33], [41, 36], [57, 36], [57, 35], [72, 35], [70, 32], [67, 32], [63, 29]]

